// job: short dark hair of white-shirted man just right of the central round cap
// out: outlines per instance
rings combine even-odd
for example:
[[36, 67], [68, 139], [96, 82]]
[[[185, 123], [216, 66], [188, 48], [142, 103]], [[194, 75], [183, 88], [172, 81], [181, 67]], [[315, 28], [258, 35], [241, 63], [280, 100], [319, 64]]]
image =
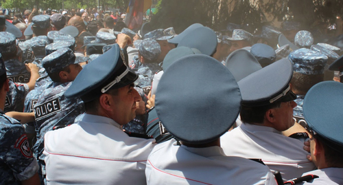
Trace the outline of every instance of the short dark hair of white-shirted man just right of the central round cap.
[[259, 107], [248, 107], [241, 105], [241, 121], [246, 123], [259, 123], [262, 124], [264, 115], [269, 109], [279, 108], [281, 106], [280, 101], [273, 102], [270, 105], [259, 106]]

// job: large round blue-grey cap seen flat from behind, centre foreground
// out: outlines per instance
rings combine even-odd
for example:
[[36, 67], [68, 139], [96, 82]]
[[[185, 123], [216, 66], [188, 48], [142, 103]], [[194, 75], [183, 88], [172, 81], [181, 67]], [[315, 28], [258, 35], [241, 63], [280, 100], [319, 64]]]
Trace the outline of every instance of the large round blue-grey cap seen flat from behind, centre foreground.
[[164, 72], [155, 109], [175, 138], [206, 144], [228, 131], [240, 102], [239, 87], [229, 70], [210, 56], [193, 54], [179, 58]]

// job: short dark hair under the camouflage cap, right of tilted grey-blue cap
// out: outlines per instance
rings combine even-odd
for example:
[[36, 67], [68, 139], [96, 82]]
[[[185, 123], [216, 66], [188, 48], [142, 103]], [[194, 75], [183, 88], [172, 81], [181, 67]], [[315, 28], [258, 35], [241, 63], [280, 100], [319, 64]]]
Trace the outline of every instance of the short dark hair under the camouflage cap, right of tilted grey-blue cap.
[[324, 80], [324, 74], [300, 74], [298, 72], [294, 72], [291, 84], [295, 91], [305, 95], [311, 87], [322, 82], [322, 80]]

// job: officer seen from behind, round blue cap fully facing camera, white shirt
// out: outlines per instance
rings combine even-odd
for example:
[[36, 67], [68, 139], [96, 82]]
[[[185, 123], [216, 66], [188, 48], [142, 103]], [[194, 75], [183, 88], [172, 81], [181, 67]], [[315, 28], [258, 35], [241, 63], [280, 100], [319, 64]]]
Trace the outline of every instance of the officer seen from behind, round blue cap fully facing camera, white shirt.
[[226, 156], [220, 147], [241, 102], [237, 82], [222, 63], [204, 54], [182, 57], [164, 72], [156, 94], [158, 118], [180, 143], [172, 139], [154, 147], [147, 184], [276, 184], [267, 166]]

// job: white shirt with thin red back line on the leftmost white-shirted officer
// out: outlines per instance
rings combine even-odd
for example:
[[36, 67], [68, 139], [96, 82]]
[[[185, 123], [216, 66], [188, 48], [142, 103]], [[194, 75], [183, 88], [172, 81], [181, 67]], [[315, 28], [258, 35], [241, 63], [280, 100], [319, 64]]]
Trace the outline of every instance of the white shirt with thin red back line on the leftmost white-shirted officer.
[[85, 114], [45, 134], [48, 184], [145, 184], [153, 142], [130, 138], [110, 118]]

